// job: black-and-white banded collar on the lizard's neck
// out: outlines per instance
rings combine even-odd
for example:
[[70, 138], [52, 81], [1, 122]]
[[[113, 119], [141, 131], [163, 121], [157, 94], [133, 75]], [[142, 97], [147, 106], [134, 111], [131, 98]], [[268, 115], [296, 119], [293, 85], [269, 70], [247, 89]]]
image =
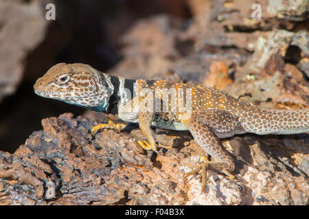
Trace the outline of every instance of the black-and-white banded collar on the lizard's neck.
[[119, 104], [126, 103], [132, 99], [133, 88], [136, 80], [111, 75], [108, 76], [110, 77], [110, 82], [114, 89], [108, 100], [108, 107], [104, 108], [102, 112], [115, 115], [118, 113]]

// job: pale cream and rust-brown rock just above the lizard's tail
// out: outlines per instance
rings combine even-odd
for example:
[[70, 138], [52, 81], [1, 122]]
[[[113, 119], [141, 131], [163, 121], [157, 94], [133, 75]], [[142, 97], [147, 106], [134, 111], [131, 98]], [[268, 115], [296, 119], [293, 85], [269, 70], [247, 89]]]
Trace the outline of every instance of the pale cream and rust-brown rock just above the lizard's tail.
[[277, 103], [277, 108], [283, 107], [282, 104], [288, 105], [286, 109], [307, 107], [307, 82], [297, 68], [299, 59], [306, 59], [304, 54], [308, 32], [305, 32], [278, 30], [260, 36], [252, 57], [236, 70], [235, 83], [227, 86], [229, 94], [237, 97], [246, 90], [252, 94], [252, 98], [247, 98], [247, 101], [260, 107], [265, 105], [268, 108], [268, 101]]

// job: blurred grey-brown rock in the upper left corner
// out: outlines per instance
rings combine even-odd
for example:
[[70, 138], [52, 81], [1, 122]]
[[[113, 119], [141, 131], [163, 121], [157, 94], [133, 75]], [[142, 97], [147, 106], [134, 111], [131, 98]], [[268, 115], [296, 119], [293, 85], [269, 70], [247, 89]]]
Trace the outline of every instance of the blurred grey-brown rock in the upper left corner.
[[0, 101], [15, 92], [23, 76], [23, 60], [44, 39], [46, 27], [40, 1], [1, 1]]

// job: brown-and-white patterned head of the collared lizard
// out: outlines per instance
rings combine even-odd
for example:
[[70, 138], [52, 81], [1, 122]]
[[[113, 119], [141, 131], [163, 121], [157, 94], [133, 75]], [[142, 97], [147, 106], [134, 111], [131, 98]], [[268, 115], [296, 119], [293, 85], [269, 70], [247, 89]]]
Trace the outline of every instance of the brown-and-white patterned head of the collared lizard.
[[108, 107], [113, 85], [108, 75], [87, 64], [56, 64], [36, 80], [38, 96], [65, 101], [102, 112]]

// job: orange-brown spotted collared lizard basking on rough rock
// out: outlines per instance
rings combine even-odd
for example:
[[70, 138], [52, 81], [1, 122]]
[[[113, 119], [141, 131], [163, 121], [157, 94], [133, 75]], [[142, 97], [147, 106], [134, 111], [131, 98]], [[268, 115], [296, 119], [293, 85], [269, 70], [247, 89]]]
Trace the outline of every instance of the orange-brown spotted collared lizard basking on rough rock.
[[[211, 161], [203, 159], [194, 170], [185, 174], [187, 177], [202, 170], [202, 191], [208, 167], [235, 179], [232, 175], [235, 163], [220, 138], [242, 133], [266, 135], [309, 131], [309, 110], [260, 109], [215, 88], [163, 80], [125, 79], [80, 63], [52, 66], [37, 79], [34, 92], [95, 112], [113, 114], [128, 123], [138, 123], [147, 139], [138, 143], [146, 150], [157, 152], [151, 126], [189, 130], [198, 146], [212, 157]], [[93, 127], [92, 133], [102, 128], [123, 129], [124, 126], [110, 120], [108, 124]]]

